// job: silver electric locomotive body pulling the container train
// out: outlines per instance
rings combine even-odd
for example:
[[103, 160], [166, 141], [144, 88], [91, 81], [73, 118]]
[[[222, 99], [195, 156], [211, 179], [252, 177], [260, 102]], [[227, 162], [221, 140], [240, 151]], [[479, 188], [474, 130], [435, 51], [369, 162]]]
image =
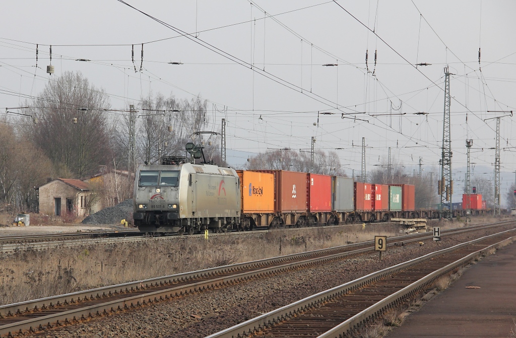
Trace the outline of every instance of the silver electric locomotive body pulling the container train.
[[216, 165], [140, 165], [134, 185], [135, 225], [141, 232], [220, 232], [240, 219], [240, 182]]

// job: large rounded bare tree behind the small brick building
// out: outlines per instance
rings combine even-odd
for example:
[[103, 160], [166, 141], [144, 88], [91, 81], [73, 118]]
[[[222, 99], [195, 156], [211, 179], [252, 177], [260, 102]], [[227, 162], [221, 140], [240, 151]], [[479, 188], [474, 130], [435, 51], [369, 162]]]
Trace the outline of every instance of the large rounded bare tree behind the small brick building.
[[109, 99], [80, 72], [63, 73], [26, 104], [25, 114], [39, 120], [29, 128], [31, 141], [56, 168], [82, 178], [109, 162]]

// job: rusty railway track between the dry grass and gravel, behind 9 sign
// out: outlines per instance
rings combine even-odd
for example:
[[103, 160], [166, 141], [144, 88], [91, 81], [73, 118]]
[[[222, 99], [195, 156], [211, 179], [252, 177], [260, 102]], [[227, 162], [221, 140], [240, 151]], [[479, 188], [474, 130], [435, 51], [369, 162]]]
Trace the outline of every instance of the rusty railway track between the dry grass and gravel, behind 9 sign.
[[[507, 224], [499, 222], [448, 229], [442, 231], [442, 236]], [[392, 237], [389, 238], [388, 245], [431, 238], [431, 233]], [[373, 241], [368, 241], [3, 305], [0, 306], [0, 336], [40, 331], [97, 314], [133, 308], [259, 276], [324, 264], [373, 251]]]

